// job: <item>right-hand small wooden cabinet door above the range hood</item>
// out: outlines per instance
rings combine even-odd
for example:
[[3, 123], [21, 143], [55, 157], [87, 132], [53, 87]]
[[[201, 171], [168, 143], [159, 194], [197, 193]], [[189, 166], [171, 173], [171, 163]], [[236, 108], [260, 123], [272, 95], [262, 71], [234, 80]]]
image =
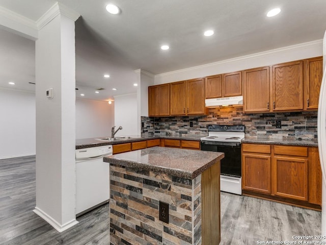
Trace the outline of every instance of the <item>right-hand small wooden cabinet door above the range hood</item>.
[[223, 97], [242, 95], [242, 71], [223, 74]]

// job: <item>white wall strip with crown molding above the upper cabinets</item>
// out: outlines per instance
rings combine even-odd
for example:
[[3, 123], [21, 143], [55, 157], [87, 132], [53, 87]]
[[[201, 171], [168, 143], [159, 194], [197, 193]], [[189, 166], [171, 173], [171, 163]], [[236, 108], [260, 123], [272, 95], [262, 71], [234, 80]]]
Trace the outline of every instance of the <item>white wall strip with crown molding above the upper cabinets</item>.
[[155, 85], [322, 56], [322, 40], [277, 48], [155, 76]]

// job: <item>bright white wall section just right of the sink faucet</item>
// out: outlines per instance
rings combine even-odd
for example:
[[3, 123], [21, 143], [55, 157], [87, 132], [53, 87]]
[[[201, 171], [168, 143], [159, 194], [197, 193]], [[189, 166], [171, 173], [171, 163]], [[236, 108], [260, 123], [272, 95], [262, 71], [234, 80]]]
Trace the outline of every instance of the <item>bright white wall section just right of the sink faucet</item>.
[[115, 136], [138, 135], [137, 93], [114, 96], [116, 130]]

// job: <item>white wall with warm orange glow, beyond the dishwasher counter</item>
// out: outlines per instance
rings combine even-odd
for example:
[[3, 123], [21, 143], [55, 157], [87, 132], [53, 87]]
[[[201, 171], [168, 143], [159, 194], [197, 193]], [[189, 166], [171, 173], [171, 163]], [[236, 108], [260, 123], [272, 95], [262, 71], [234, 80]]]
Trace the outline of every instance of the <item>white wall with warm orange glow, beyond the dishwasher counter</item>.
[[110, 137], [114, 103], [76, 99], [76, 139]]

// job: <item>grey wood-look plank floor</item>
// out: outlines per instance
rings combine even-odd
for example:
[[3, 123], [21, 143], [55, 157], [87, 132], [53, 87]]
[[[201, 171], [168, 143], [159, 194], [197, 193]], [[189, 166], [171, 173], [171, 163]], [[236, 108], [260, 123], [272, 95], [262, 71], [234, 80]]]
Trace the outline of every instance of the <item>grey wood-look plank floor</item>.
[[[34, 207], [35, 157], [0, 159], [0, 245], [109, 244], [108, 204], [79, 217], [62, 233], [36, 215]], [[321, 212], [221, 193], [220, 244], [295, 240], [292, 236], [320, 231]]]

